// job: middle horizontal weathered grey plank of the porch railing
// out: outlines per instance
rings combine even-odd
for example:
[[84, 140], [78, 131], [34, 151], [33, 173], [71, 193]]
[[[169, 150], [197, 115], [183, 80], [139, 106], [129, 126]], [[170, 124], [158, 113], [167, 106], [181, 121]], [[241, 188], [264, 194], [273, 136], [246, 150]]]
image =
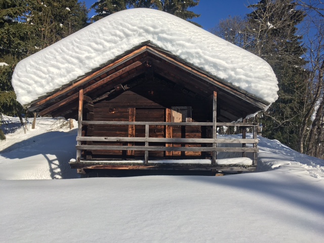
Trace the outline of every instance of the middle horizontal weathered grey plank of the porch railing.
[[159, 142], [159, 143], [258, 143], [258, 139], [223, 138], [140, 138], [140, 137], [76, 137], [76, 141], [98, 142]]

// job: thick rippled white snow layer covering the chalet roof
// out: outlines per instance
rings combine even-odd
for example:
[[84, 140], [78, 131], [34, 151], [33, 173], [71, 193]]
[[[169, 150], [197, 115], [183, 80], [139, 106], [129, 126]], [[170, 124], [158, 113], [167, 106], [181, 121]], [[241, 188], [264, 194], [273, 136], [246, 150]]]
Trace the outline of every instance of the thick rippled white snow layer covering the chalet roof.
[[261, 58], [171, 14], [130, 9], [19, 62], [12, 78], [17, 100], [27, 104], [148, 40], [267, 102], [277, 99], [277, 79]]

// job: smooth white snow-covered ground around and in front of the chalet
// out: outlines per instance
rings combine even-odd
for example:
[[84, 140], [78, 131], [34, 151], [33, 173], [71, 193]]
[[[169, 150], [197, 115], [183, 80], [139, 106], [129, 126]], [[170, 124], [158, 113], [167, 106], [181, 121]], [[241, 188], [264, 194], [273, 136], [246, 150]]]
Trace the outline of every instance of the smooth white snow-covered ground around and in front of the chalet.
[[257, 173], [79, 179], [75, 129], [8, 119], [0, 242], [323, 242], [324, 161], [278, 141], [259, 137]]

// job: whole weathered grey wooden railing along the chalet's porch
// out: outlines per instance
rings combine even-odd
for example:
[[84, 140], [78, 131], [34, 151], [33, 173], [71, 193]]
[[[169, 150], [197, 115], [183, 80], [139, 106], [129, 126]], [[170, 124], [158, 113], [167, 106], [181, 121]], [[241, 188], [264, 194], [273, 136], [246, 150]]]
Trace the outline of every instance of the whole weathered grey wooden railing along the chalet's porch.
[[[246, 156], [247, 152], [253, 153], [253, 165], [257, 165], [257, 124], [248, 123], [217, 123], [217, 126], [240, 127], [242, 129], [241, 139], [220, 139], [220, 138], [151, 138], [149, 137], [150, 126], [211, 126], [213, 123], [169, 123], [169, 122], [144, 122], [144, 121], [81, 121], [81, 125], [133, 125], [145, 126], [145, 137], [83, 137], [78, 133], [77, 140], [77, 161], [81, 159], [81, 150], [140, 150], [145, 151], [145, 161], [148, 163], [148, 151], [201, 151], [211, 152], [213, 159], [212, 165], [216, 164], [217, 152], [242, 152], [242, 156]], [[253, 138], [246, 138], [246, 129], [252, 128]], [[214, 128], [216, 130], [216, 128]], [[79, 128], [80, 131], [80, 128]], [[216, 134], [216, 133], [215, 133]], [[92, 142], [143, 142], [143, 146], [138, 145], [83, 145], [83, 141]], [[152, 143], [170, 144], [190, 144], [190, 147], [173, 147], [173, 146], [154, 146]], [[195, 144], [212, 144], [210, 147], [194, 146]], [[218, 147], [220, 144], [242, 144], [241, 147]], [[252, 144], [252, 147], [246, 147], [246, 144]]]

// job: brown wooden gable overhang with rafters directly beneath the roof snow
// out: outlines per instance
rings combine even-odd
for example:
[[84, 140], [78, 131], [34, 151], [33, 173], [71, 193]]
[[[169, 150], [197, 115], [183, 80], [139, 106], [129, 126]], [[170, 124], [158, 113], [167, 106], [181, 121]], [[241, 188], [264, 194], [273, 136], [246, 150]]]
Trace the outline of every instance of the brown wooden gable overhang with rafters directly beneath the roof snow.
[[[143, 100], [155, 103], [155, 106], [165, 108], [186, 106], [188, 103], [199, 104], [195, 105], [195, 109], [201, 109], [201, 112], [210, 107], [216, 91], [217, 120], [221, 122], [244, 118], [269, 105], [148, 41], [60, 89], [39, 97], [28, 104], [28, 109], [40, 115], [77, 119], [79, 90], [83, 90], [95, 106], [102, 102], [120, 100], [118, 96], [123, 97], [121, 100], [126, 103], [135, 104], [136, 102], [127, 99], [131, 99], [130, 94], [136, 94]], [[178, 97], [178, 101], [174, 100], [175, 97]]]

